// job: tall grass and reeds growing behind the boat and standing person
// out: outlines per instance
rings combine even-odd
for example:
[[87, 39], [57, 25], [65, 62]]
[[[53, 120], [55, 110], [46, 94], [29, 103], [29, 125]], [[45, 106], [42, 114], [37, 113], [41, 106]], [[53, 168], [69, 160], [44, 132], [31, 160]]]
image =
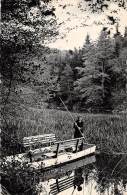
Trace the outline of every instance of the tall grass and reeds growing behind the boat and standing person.
[[[77, 113], [72, 114], [74, 118]], [[127, 153], [127, 115], [80, 114], [84, 135], [104, 152]], [[31, 109], [20, 117], [7, 121], [17, 128], [18, 137], [55, 133], [58, 140], [73, 138], [73, 121], [66, 111]]]

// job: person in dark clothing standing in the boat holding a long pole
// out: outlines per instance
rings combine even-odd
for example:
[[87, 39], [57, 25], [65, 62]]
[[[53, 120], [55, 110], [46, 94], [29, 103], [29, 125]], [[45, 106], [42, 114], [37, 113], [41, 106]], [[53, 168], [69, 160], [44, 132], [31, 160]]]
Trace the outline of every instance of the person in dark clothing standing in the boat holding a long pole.
[[74, 138], [83, 137], [83, 120], [80, 116], [78, 116], [76, 122], [74, 123]]

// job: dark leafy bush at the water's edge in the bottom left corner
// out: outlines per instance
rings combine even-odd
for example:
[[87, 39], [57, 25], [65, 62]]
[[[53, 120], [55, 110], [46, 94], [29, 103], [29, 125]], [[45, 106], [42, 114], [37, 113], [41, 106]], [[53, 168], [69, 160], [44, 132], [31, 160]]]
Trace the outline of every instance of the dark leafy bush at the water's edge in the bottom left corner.
[[11, 162], [2, 160], [1, 183], [11, 194], [16, 195], [37, 195], [41, 190], [38, 188], [39, 175], [30, 168], [28, 163], [21, 163], [15, 157]]

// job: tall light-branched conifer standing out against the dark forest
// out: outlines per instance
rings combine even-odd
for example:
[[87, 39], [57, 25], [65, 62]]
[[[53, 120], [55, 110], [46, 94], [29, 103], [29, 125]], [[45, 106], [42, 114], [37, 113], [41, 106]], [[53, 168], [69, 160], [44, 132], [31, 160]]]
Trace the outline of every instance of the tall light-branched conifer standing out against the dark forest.
[[83, 47], [84, 68], [79, 68], [81, 78], [76, 82], [76, 90], [81, 94], [85, 108], [106, 111], [110, 105], [110, 76], [108, 60], [114, 57], [114, 47], [107, 32], [102, 31], [96, 45], [92, 45], [88, 35]]

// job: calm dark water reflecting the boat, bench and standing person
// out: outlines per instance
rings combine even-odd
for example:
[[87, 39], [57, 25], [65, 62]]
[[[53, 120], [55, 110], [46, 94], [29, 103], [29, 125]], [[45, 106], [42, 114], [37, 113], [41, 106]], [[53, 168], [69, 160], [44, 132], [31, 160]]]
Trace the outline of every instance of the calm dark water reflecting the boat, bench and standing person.
[[127, 156], [91, 156], [41, 177], [41, 195], [127, 195]]

